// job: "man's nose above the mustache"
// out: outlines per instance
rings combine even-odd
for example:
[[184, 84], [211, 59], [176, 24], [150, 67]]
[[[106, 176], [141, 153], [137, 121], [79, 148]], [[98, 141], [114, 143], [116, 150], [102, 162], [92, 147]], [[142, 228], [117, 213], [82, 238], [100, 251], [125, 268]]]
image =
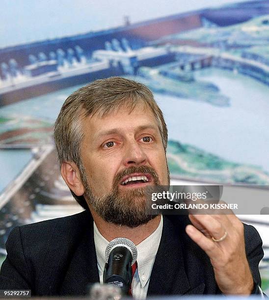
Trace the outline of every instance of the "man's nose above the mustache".
[[124, 165], [130, 167], [132, 165], [145, 165], [147, 163], [147, 155], [142, 147], [133, 141], [126, 146]]

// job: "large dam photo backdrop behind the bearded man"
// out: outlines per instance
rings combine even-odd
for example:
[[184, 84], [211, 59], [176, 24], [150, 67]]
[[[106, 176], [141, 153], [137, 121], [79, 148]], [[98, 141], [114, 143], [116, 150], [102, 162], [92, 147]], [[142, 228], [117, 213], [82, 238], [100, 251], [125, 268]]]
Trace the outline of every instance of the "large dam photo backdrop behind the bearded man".
[[[172, 184], [268, 190], [269, 1], [125, 2], [3, 1], [0, 263], [14, 226], [81, 211], [59, 173], [53, 126], [68, 95], [97, 78], [154, 92]], [[269, 216], [241, 219], [263, 238], [269, 290]]]

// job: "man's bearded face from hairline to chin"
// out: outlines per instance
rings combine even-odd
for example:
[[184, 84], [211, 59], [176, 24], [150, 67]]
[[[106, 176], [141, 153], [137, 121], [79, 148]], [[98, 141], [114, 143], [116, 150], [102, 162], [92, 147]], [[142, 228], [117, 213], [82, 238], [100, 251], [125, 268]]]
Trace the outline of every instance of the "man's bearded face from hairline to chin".
[[[120, 108], [82, 121], [81, 160], [88, 204], [107, 222], [134, 227], [145, 213], [147, 187], [168, 185], [161, 134], [150, 108]], [[84, 176], [83, 176], [84, 175]]]

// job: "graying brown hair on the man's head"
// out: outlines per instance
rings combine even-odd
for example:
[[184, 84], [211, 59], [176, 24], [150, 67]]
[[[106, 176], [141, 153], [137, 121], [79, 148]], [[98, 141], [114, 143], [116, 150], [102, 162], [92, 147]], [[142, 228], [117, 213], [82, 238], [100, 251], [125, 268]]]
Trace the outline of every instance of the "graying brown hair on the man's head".
[[[65, 100], [54, 125], [54, 142], [60, 166], [65, 161], [74, 162], [83, 175], [84, 168], [81, 162], [83, 118], [90, 115], [103, 118], [121, 107], [128, 107], [132, 111], [136, 105], [152, 110], [166, 151], [167, 127], [152, 92], [144, 84], [134, 80], [109, 77], [81, 87]], [[83, 196], [78, 197], [73, 192], [72, 194], [83, 208], [88, 209]]]

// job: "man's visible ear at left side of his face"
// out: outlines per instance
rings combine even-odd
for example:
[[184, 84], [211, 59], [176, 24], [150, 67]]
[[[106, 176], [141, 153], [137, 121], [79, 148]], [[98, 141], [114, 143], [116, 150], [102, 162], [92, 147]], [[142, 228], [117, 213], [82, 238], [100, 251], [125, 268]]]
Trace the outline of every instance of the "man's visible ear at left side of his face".
[[63, 162], [61, 174], [65, 183], [77, 196], [84, 194], [85, 188], [81, 181], [80, 171], [74, 162]]

